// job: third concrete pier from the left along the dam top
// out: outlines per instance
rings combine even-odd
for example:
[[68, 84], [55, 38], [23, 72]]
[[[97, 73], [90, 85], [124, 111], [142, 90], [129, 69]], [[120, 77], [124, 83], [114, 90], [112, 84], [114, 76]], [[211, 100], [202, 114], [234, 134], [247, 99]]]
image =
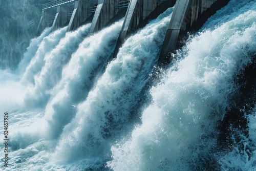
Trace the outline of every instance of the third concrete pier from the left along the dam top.
[[81, 24], [89, 17], [89, 8], [94, 5], [94, 1], [89, 2], [79, 0], [75, 2], [74, 11], [72, 13], [67, 32], [75, 30], [81, 26]]

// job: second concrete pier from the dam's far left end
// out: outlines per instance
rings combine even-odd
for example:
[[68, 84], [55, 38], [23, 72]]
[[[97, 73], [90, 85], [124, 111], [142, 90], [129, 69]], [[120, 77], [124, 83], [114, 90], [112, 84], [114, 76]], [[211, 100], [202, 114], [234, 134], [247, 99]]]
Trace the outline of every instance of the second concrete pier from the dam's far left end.
[[68, 22], [68, 12], [69, 12], [68, 6], [57, 7], [57, 13], [55, 15], [51, 32], [60, 27], [63, 27]]

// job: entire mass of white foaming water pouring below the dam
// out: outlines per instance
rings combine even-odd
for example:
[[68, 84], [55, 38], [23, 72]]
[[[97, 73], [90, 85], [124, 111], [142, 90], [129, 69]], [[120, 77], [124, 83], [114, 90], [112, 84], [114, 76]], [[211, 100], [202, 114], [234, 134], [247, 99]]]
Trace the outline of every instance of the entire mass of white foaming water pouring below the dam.
[[[114, 59], [122, 19], [32, 39], [18, 69], [0, 71], [7, 170], [255, 170], [256, 2], [230, 1], [160, 69], [172, 11]], [[228, 120], [234, 109], [245, 123]]]

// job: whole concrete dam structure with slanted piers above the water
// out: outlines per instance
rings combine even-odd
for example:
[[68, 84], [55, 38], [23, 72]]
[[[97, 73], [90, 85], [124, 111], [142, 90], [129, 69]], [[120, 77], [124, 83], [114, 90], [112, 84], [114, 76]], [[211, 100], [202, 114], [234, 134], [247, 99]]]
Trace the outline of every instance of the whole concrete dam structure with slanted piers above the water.
[[159, 54], [159, 63], [169, 63], [182, 46], [188, 31], [198, 30], [207, 18], [229, 0], [56, 0], [43, 5], [37, 34], [47, 27], [51, 31], [68, 26], [67, 32], [92, 23], [90, 33], [97, 32], [124, 17], [114, 57], [125, 38], [145, 26], [167, 8], [174, 12]]

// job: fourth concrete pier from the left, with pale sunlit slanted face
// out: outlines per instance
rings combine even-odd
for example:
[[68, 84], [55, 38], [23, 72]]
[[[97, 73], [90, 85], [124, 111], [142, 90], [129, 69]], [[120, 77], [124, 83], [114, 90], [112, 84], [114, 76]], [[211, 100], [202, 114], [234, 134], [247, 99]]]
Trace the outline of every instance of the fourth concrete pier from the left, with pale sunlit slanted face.
[[115, 0], [99, 0], [96, 8], [90, 33], [102, 29], [115, 16]]

